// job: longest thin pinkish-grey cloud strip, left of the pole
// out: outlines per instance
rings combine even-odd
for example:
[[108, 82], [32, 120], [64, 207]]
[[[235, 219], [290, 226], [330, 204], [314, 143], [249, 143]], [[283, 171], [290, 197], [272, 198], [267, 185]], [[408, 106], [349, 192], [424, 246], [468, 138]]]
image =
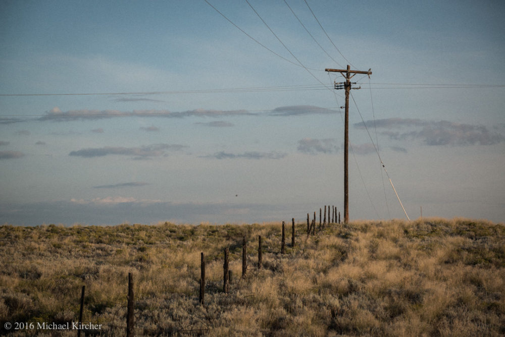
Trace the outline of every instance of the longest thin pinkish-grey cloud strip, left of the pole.
[[221, 117], [221, 116], [250, 116], [256, 115], [249, 113], [247, 110], [209, 110], [209, 109], [194, 109], [180, 112], [172, 112], [169, 110], [69, 110], [62, 111], [59, 107], [46, 111], [45, 115], [38, 118], [38, 121], [53, 121], [53, 122], [71, 122], [110, 119], [119, 117], [165, 117], [165, 118], [184, 118], [184, 117]]

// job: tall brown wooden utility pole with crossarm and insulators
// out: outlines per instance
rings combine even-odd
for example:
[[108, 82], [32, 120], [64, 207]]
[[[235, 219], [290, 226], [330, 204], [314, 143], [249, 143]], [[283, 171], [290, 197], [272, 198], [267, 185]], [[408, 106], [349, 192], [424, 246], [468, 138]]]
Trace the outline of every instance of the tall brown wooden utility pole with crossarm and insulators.
[[[356, 74], [372, 75], [372, 72], [347, 69], [325, 69], [327, 72], [335, 72], [345, 77], [344, 83], [335, 83], [334, 89], [345, 89], [345, 123], [344, 123], [344, 223], [349, 222], [349, 92], [351, 89], [350, 79]], [[352, 74], [352, 75], [351, 75]], [[343, 84], [343, 85], [342, 85]], [[352, 84], [356, 84], [352, 83]], [[360, 88], [352, 88], [360, 89]]]

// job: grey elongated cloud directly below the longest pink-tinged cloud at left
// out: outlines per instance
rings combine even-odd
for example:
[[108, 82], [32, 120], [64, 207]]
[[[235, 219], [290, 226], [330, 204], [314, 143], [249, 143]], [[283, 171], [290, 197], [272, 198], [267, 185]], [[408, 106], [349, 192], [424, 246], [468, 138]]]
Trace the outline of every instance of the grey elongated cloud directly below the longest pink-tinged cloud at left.
[[180, 144], [151, 144], [141, 147], [112, 147], [86, 148], [69, 153], [71, 156], [80, 156], [84, 158], [102, 157], [110, 154], [130, 155], [136, 158], [159, 157], [166, 155], [166, 151], [180, 151], [188, 148], [187, 145]]

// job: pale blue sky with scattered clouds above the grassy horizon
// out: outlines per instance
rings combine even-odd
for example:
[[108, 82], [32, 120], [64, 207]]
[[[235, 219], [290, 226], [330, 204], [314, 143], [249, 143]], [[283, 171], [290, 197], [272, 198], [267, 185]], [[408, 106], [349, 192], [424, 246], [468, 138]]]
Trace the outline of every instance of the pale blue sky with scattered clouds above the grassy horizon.
[[[0, 224], [505, 221], [502, 1], [2, 1]], [[360, 88], [361, 89], [358, 89]], [[382, 167], [384, 165], [384, 167]], [[387, 171], [385, 171], [385, 170]]]

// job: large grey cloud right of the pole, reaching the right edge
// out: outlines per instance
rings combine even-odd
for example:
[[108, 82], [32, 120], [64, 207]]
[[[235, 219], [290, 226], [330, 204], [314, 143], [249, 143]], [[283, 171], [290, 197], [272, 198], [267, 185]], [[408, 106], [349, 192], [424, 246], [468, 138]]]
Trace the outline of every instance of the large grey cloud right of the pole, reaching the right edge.
[[[366, 121], [367, 127], [374, 127], [374, 121]], [[362, 123], [354, 125], [358, 129], [365, 126]], [[393, 140], [419, 140], [426, 145], [494, 145], [505, 141], [505, 137], [497, 132], [489, 131], [483, 125], [471, 125], [448, 121], [423, 121], [419, 119], [390, 118], [376, 120], [377, 128], [413, 128], [411, 131], [383, 131]]]

